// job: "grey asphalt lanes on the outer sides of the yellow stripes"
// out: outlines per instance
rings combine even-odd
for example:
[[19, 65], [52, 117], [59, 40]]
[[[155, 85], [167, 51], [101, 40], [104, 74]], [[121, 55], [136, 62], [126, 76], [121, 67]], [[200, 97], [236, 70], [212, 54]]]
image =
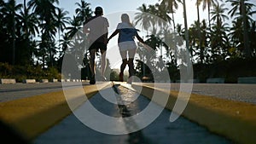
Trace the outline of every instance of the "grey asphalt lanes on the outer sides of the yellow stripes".
[[[70, 82], [72, 85], [72, 82]], [[76, 84], [76, 83], [73, 83]], [[88, 83], [83, 83], [83, 85]], [[152, 84], [148, 84], [152, 85]], [[179, 90], [180, 84], [163, 84]], [[0, 102], [62, 90], [61, 83], [0, 84]], [[256, 104], [256, 84], [193, 84], [192, 93]]]

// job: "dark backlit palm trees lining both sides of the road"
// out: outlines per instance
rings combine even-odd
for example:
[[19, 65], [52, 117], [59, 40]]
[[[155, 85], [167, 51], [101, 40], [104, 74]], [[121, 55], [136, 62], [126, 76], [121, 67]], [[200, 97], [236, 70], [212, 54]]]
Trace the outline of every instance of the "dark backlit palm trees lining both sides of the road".
[[[231, 9], [227, 9], [224, 3], [230, 3]], [[86, 37], [81, 28], [84, 20], [92, 15], [90, 3], [84, 0], [74, 3], [77, 9], [72, 17], [58, 4], [59, 0], [24, 0], [23, 3], [0, 0], [0, 62], [60, 69], [65, 51], [80, 59], [84, 57], [87, 54], [84, 48]], [[148, 32], [145, 40], [155, 51], [160, 50], [161, 60], [165, 60], [166, 66], [177, 67], [177, 57], [183, 53], [163, 43], [165, 38], [173, 35], [187, 41], [193, 63], [212, 64], [256, 56], [254, 3], [248, 0], [196, 0], [198, 20], [189, 27], [175, 22], [174, 14], [177, 9], [185, 8], [180, 7], [183, 4], [182, 0], [161, 0], [154, 5], [143, 4], [137, 9], [135, 24], [142, 25]], [[208, 20], [200, 19], [201, 4], [203, 10], [207, 9]], [[172, 27], [144, 13], [154, 14]], [[232, 22], [231, 26], [228, 20]], [[154, 29], [156, 25], [160, 29]], [[144, 58], [154, 61], [152, 65], [160, 64], [156, 56]], [[143, 71], [143, 66], [138, 67]]]

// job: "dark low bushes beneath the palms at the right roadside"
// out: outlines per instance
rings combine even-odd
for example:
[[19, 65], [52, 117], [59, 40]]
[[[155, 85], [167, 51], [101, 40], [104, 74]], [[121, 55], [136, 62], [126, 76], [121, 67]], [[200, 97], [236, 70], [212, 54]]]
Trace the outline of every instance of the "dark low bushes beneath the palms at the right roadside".
[[202, 83], [207, 78], [225, 78], [225, 83], [237, 83], [237, 78], [256, 76], [256, 58], [223, 60], [213, 64], [195, 64], [194, 76]]

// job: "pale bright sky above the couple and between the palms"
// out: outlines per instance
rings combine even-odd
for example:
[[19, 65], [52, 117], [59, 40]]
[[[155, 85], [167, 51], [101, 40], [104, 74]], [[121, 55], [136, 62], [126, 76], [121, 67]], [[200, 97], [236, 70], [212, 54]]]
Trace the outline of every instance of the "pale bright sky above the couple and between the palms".
[[[29, 0], [26, 0], [27, 2]], [[224, 0], [225, 1], [225, 0]], [[17, 3], [23, 3], [23, 0], [16, 0]], [[75, 9], [78, 6], [75, 3], [80, 3], [81, 0], [59, 0], [59, 7], [67, 10], [69, 12], [69, 16], [73, 17], [75, 14]], [[86, 3], [90, 3], [90, 8], [94, 10], [97, 6], [101, 6], [104, 11], [104, 15], [109, 18], [109, 33], [112, 33], [117, 26], [117, 23], [120, 21], [119, 16], [122, 13], [131, 13], [134, 14], [137, 12], [137, 8], [141, 7], [143, 3], [146, 5], [160, 3], [160, 0], [85, 0]], [[255, 3], [255, 0], [250, 0], [251, 3]], [[227, 4], [227, 3], [226, 3]], [[256, 3], [255, 3], [256, 4]], [[227, 6], [227, 5], [226, 5]], [[197, 11], [195, 6], [195, 0], [186, 0], [186, 9], [187, 9], [187, 18], [188, 18], [188, 26], [194, 23], [197, 20]], [[202, 11], [200, 7], [200, 17], [201, 20], [207, 20], [207, 9]], [[255, 9], [256, 10], [256, 9]], [[177, 12], [174, 14], [176, 24], [182, 24], [183, 21], [183, 6], [179, 4]], [[113, 18], [114, 17], [114, 18]], [[256, 20], [256, 14], [254, 14], [253, 18]], [[131, 17], [132, 20], [132, 17]], [[184, 26], [184, 25], [183, 25]], [[116, 38], [116, 37], [115, 37]], [[114, 38], [113, 38], [114, 39]], [[108, 43], [110, 49], [107, 51], [107, 58], [110, 60], [111, 67], [119, 66], [121, 59], [120, 56], [113, 59], [112, 54], [118, 51], [117, 41], [111, 40]]]

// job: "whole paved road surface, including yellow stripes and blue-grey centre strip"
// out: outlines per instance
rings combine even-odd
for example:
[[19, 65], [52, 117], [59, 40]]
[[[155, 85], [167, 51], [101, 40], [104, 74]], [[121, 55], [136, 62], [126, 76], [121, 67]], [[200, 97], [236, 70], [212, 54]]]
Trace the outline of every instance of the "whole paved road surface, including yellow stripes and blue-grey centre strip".
[[[82, 88], [82, 85], [84, 88], [77, 90], [79, 87]], [[106, 84], [100, 85], [102, 87], [99, 89], [102, 89]], [[152, 84], [145, 85], [152, 86]], [[165, 86], [171, 86], [171, 89], [174, 91], [178, 91], [179, 89], [179, 84], [163, 84], [163, 87]], [[194, 84], [193, 94], [189, 99], [186, 110], [183, 112], [183, 116], [200, 125], [204, 125], [211, 131], [226, 135], [226, 137], [230, 137], [234, 141], [254, 144], [256, 142], [253, 135], [256, 132], [255, 87], [255, 84]], [[85, 91], [89, 94], [86, 95], [90, 97], [95, 95], [98, 89], [96, 85], [88, 85], [88, 83], [68, 83], [66, 88], [73, 94], [70, 97], [70, 100], [76, 104], [73, 108], [77, 108], [77, 106], [86, 101], [84, 100], [84, 95], [80, 95], [81, 91], [83, 93]], [[120, 100], [125, 100], [126, 93], [131, 96], [131, 92], [127, 91], [123, 92], [122, 96], [114, 95], [115, 97], [113, 98], [115, 100], [119, 98], [121, 98]], [[141, 94], [146, 95], [150, 99], [152, 93], [154, 93], [154, 89], [147, 88]], [[165, 93], [169, 95], [170, 91], [166, 91]], [[21, 130], [30, 140], [35, 140], [33, 141], [35, 143], [50, 143], [53, 139], [56, 140], [55, 143], [62, 140], [67, 141], [67, 139], [70, 139], [72, 142], [76, 142], [77, 140], [78, 143], [79, 141], [84, 143], [93, 143], [95, 141], [97, 143], [101, 139], [105, 140], [104, 143], [107, 143], [107, 141], [109, 143], [112, 141], [114, 141], [112, 143], [136, 143], [137, 141], [141, 141], [141, 143], [170, 143], [168, 142], [170, 139], [173, 143], [211, 143], [211, 141], [214, 141], [213, 143], [230, 143], [224, 137], [213, 135], [206, 129], [191, 123], [185, 118], [178, 118], [174, 123], [170, 123], [168, 121], [170, 111], [168, 110], [164, 110], [153, 124], [137, 133], [131, 133], [131, 135], [104, 135], [95, 130], [90, 130], [90, 128], [79, 122], [79, 119], [73, 114], [69, 115], [71, 113], [70, 107], [67, 106], [67, 97], [63, 95], [61, 83], [3, 84], [0, 85], [0, 95], [0, 118], [9, 122], [10, 125], [15, 126], [17, 130]], [[168, 105], [166, 105], [167, 109], [172, 110], [174, 102], [177, 99], [176, 96], [177, 92], [170, 93], [170, 101], [168, 100]], [[114, 100], [113, 98], [112, 100]], [[133, 108], [135, 109], [111, 105], [109, 102], [106, 104], [106, 101], [99, 94], [93, 96], [90, 101], [92, 101], [93, 106], [97, 107], [100, 112], [109, 116], [127, 117], [143, 110], [143, 107], [146, 107], [148, 104], [148, 99], [143, 96], [138, 96], [137, 100], [133, 103]], [[125, 111], [123, 111], [124, 108]], [[69, 116], [66, 118], [67, 115]], [[42, 134], [45, 129], [53, 126], [56, 122], [60, 122], [62, 118], [65, 119], [60, 124], [55, 125], [55, 127], [34, 139], [38, 134]], [[103, 120], [102, 123], [104, 123]], [[127, 127], [125, 122], [114, 126], [121, 130], [129, 129], [129, 125]], [[61, 130], [62, 128], [63, 130]], [[94, 140], [99, 137], [100, 140]]]

